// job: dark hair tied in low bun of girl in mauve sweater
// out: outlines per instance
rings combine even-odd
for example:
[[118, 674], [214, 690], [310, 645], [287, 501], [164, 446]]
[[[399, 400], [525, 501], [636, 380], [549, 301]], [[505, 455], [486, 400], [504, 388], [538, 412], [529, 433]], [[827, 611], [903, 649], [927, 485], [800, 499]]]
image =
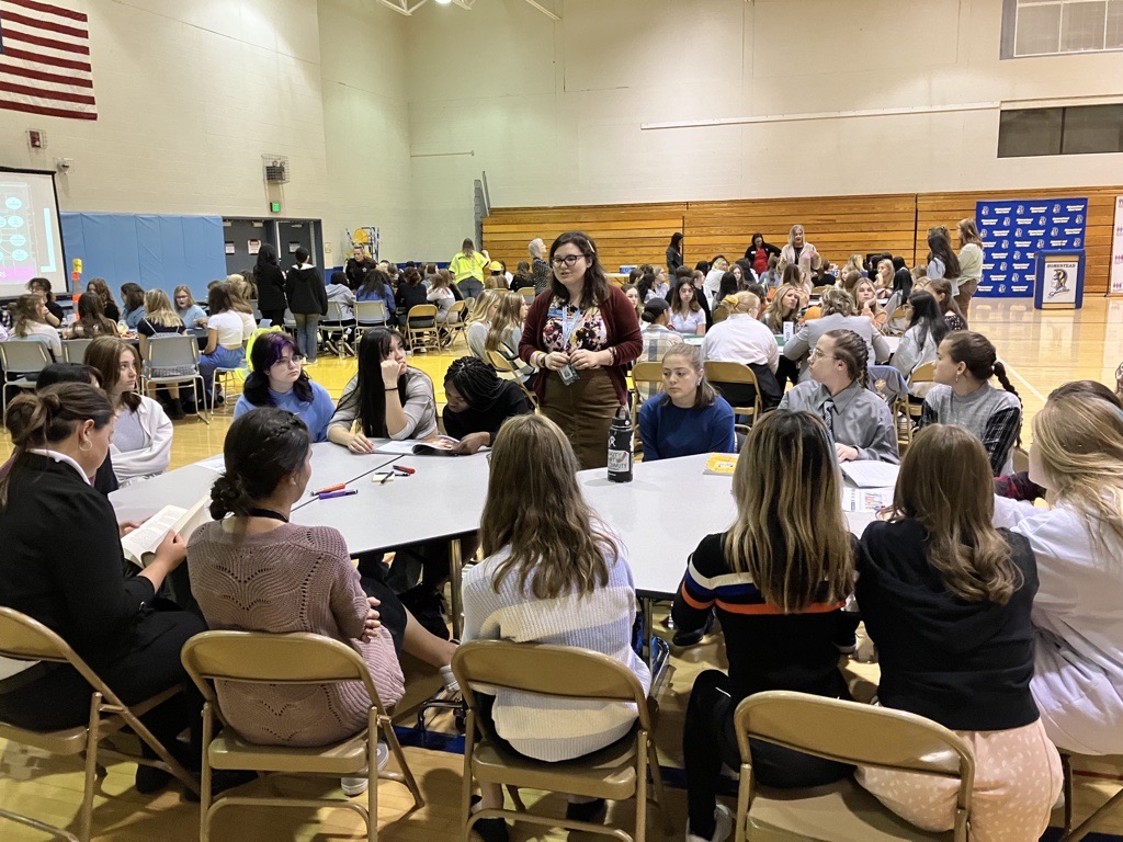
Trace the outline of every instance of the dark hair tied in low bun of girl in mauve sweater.
[[211, 486], [211, 518], [248, 516], [300, 469], [311, 446], [308, 427], [285, 410], [263, 406], [235, 419], [222, 446], [226, 473]]

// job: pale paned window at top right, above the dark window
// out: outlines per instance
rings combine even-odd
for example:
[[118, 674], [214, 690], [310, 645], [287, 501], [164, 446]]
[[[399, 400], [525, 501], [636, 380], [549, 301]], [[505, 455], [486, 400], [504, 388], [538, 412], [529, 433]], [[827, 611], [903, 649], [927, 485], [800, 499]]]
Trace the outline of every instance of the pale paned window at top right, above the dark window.
[[1003, 0], [1003, 58], [1110, 49], [1123, 49], [1123, 0]]

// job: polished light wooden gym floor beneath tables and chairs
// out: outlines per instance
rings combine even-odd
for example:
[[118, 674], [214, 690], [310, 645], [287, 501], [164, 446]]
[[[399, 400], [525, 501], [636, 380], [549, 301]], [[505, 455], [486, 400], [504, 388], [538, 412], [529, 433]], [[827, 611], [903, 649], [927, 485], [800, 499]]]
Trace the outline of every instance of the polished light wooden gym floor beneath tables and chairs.
[[[997, 346], [1011, 369], [1011, 377], [1022, 395], [1025, 406], [1024, 441], [1031, 440], [1030, 420], [1041, 409], [1049, 392], [1070, 379], [1093, 378], [1114, 385], [1115, 368], [1123, 361], [1123, 299], [1089, 299], [1083, 311], [1042, 312], [1024, 301], [989, 303], [980, 300], [971, 306], [971, 327], [987, 335]], [[451, 353], [417, 355], [412, 365], [433, 377], [438, 402], [444, 401], [442, 375], [456, 356], [464, 354], [464, 344], [457, 342]], [[334, 397], [339, 397], [347, 381], [354, 375], [355, 360], [321, 357], [310, 369], [311, 376], [325, 385]], [[229, 427], [229, 415], [217, 417], [208, 427], [188, 419], [175, 422], [175, 441], [172, 467], [186, 465], [221, 451], [222, 439]], [[0, 434], [0, 458], [10, 452], [10, 441]], [[657, 628], [661, 629], [657, 615]], [[659, 756], [664, 767], [681, 769], [682, 715], [690, 696], [694, 676], [702, 669], [724, 667], [724, 647], [721, 637], [693, 649], [677, 652], [670, 661], [669, 677], [659, 689], [660, 715], [656, 727]], [[399, 705], [395, 722], [403, 726], [416, 723], [420, 701], [436, 692], [438, 679], [430, 670], [407, 659], [410, 692]], [[857, 666], [857, 681], [876, 681], [876, 666]], [[454, 734], [451, 722], [438, 719], [432, 729]], [[459, 797], [462, 757], [451, 751], [407, 748], [407, 757], [426, 797], [426, 806], [407, 815], [411, 804], [404, 787], [383, 782], [380, 788], [380, 835], [393, 842], [433, 842], [460, 838]], [[1090, 813], [1120, 788], [1123, 779], [1123, 758], [1076, 758], [1076, 816]], [[198, 807], [183, 802], [177, 789], [156, 796], [141, 796], [133, 789], [135, 767], [119, 763], [109, 767], [102, 793], [107, 797], [94, 800], [94, 839], [113, 842], [190, 842], [198, 839]], [[681, 839], [685, 825], [685, 798], [679, 788], [682, 775], [672, 772], [667, 808], [675, 827], [674, 838]], [[0, 807], [31, 813], [43, 821], [67, 825], [74, 817], [81, 797], [82, 775], [79, 765], [57, 760], [25, 750], [22, 747], [0, 741]], [[247, 787], [261, 789], [262, 781]], [[332, 781], [285, 779], [280, 781], [284, 793], [326, 793]], [[528, 803], [536, 800], [529, 798]], [[538, 809], [560, 816], [564, 798], [557, 795], [538, 795]], [[733, 800], [729, 802], [733, 806]], [[631, 804], [613, 805], [610, 818], [626, 829], [632, 825]], [[649, 838], [660, 838], [658, 814], [650, 812]], [[1059, 821], [1060, 814], [1054, 814]], [[1123, 836], [1123, 812], [1105, 829], [1106, 833]], [[578, 834], [579, 835], [579, 834]], [[347, 811], [319, 812], [305, 809], [259, 809], [231, 807], [220, 813], [213, 825], [213, 839], [238, 842], [335, 842], [362, 839], [364, 832], [357, 816]], [[6, 842], [38, 842], [47, 835], [0, 818], [0, 839]], [[562, 840], [558, 831], [541, 832], [529, 826], [515, 827], [512, 840]]]

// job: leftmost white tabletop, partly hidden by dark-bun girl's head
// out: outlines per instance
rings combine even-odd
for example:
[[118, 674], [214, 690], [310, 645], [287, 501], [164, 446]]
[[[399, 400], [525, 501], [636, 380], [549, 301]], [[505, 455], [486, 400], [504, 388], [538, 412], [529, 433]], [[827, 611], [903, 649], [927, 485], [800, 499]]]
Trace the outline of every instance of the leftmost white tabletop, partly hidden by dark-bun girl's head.
[[[351, 483], [393, 461], [394, 458], [389, 454], [353, 454], [347, 448], [329, 441], [312, 445], [312, 478], [308, 484], [308, 491]], [[220, 467], [221, 455], [118, 488], [109, 495], [109, 502], [113, 504], [118, 520], [143, 520], [166, 505], [190, 509], [195, 501], [210, 492], [219, 475], [219, 470], [204, 467], [204, 464]], [[314, 497], [305, 496], [296, 507], [305, 506], [313, 500]]]

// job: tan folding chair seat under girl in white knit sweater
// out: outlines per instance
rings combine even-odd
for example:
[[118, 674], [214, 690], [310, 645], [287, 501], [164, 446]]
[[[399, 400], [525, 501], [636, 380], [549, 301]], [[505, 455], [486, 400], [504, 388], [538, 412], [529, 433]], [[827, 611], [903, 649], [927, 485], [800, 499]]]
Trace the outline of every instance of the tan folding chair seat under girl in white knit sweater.
[[[549, 765], [502, 751], [483, 740], [472, 756], [472, 774], [484, 784], [505, 784], [514, 774], [520, 787], [546, 790], [557, 786], [562, 774], [567, 793], [626, 800], [636, 794], [636, 735], [629, 734], [593, 754]], [[583, 781], [586, 788], [582, 788]]]

